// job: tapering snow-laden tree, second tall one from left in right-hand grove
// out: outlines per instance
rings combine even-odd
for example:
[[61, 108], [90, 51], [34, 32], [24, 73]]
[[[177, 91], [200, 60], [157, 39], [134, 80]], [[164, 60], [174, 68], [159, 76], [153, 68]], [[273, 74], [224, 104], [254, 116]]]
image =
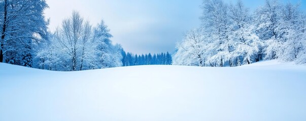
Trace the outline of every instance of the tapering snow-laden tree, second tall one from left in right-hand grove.
[[231, 23], [229, 34], [230, 54], [229, 65], [251, 64], [262, 59], [263, 43], [255, 34], [255, 26], [251, 24], [252, 19], [249, 10], [242, 1], [236, 5], [230, 5], [229, 18]]

